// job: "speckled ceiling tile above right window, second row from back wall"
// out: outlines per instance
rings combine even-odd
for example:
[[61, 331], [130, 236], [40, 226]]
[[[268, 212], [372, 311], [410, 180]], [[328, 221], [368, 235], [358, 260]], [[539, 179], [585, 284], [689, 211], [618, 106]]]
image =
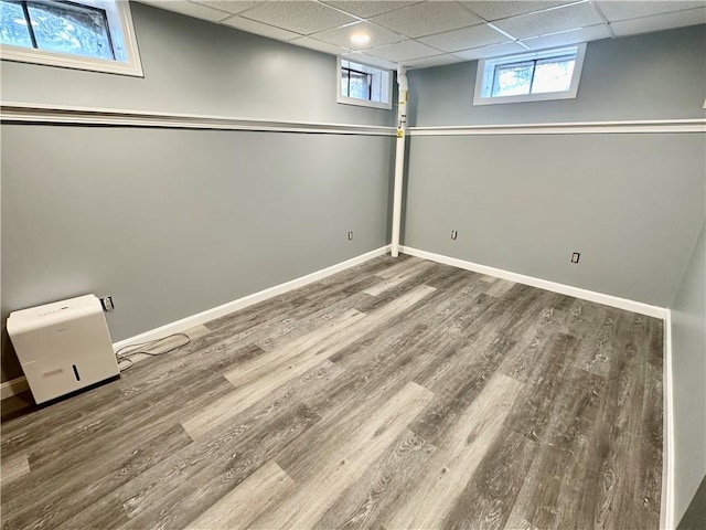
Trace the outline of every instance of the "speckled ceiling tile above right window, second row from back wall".
[[602, 23], [602, 19], [590, 3], [567, 6], [566, 8], [493, 22], [494, 25], [517, 39], [587, 28], [600, 23]]

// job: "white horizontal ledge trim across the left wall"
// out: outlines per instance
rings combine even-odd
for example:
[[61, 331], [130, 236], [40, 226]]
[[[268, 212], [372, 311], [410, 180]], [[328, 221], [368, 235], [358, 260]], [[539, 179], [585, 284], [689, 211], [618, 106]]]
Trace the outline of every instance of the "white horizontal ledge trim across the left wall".
[[67, 124], [178, 129], [259, 130], [330, 135], [395, 136], [394, 127], [290, 121], [232, 116], [121, 110], [26, 103], [0, 103], [0, 120], [14, 124]]

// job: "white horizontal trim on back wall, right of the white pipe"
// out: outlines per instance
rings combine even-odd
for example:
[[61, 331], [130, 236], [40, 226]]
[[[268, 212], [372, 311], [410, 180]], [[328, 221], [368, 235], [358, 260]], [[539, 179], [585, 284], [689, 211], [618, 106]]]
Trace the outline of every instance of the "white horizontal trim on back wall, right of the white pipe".
[[638, 121], [574, 121], [565, 124], [468, 125], [409, 128], [410, 136], [605, 135], [628, 132], [706, 132], [706, 119], [648, 119]]

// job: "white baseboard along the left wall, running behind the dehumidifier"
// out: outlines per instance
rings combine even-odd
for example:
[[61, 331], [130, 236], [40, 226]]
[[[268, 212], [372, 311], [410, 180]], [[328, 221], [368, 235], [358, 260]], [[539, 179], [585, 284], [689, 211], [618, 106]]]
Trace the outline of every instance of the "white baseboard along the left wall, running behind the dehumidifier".
[[[322, 268], [321, 271], [317, 271], [306, 276], [295, 278], [290, 282], [285, 282], [284, 284], [275, 285], [274, 287], [253, 293], [252, 295], [244, 296], [243, 298], [238, 298], [237, 300], [228, 301], [227, 304], [223, 304], [222, 306], [206, 309], [205, 311], [192, 315], [186, 318], [182, 318], [181, 320], [176, 320], [164, 326], [160, 326], [159, 328], [150, 329], [149, 331], [136, 335], [135, 337], [114, 342], [113, 349], [117, 351], [120, 348], [125, 348], [126, 346], [130, 346], [137, 342], [147, 342], [149, 340], [160, 339], [168, 335], [185, 331], [190, 328], [193, 328], [194, 326], [205, 324], [210, 320], [214, 320], [216, 318], [228, 315], [229, 312], [237, 311], [238, 309], [244, 309], [259, 301], [272, 298], [274, 296], [279, 296], [287, 292], [303, 287], [304, 285], [309, 285], [313, 282], [319, 282], [327, 276], [331, 276], [332, 274], [340, 273], [341, 271], [345, 271], [346, 268], [351, 268], [355, 265], [360, 265], [361, 263], [365, 263], [374, 257], [382, 256], [383, 254], [389, 252], [389, 247], [391, 245], [382, 246], [374, 251], [366, 252], [365, 254], [361, 254], [360, 256], [346, 259], [345, 262], [336, 263], [335, 265], [331, 265], [330, 267]], [[11, 395], [24, 392], [29, 389], [29, 385], [26, 383], [26, 379], [23, 375], [21, 378], [6, 381], [4, 383], [2, 383], [2, 385], [0, 385], [0, 388], [2, 390], [1, 399], [4, 400], [6, 398], [10, 398]]]

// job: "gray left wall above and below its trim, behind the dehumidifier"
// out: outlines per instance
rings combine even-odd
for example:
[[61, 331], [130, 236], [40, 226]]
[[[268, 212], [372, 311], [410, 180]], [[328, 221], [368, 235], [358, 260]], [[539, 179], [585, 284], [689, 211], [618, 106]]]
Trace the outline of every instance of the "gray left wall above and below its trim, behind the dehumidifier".
[[[145, 78], [2, 62], [4, 102], [392, 125], [335, 59], [132, 4]], [[393, 139], [2, 125], [2, 381], [12, 310], [111, 294], [121, 340], [383, 246]], [[346, 232], [354, 231], [354, 240]]]

